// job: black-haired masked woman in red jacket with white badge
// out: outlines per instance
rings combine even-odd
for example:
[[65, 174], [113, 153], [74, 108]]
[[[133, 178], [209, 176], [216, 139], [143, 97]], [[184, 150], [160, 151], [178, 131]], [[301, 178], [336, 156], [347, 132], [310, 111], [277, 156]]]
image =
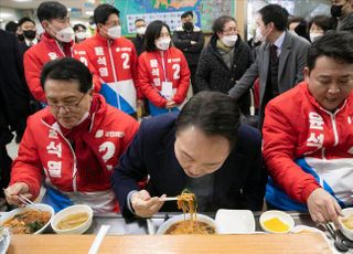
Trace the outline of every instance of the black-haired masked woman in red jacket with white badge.
[[139, 87], [152, 116], [179, 110], [185, 100], [190, 71], [183, 53], [171, 47], [170, 29], [157, 20], [146, 30], [145, 50], [139, 56]]

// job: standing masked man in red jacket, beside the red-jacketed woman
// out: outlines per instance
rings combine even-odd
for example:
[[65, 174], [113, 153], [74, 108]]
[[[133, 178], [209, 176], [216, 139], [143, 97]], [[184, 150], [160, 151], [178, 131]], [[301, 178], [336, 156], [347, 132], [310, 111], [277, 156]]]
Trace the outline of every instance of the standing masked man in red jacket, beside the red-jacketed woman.
[[108, 104], [135, 115], [138, 62], [133, 43], [121, 38], [119, 11], [113, 6], [98, 6], [94, 20], [96, 34], [75, 45], [74, 57], [95, 70], [101, 84], [100, 94]]

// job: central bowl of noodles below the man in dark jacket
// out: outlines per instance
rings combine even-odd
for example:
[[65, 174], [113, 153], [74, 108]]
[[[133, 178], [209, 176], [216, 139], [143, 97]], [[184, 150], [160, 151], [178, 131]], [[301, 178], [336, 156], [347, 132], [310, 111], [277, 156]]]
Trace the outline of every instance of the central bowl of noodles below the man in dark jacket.
[[158, 229], [157, 234], [217, 234], [215, 221], [204, 214], [180, 214], [165, 221]]

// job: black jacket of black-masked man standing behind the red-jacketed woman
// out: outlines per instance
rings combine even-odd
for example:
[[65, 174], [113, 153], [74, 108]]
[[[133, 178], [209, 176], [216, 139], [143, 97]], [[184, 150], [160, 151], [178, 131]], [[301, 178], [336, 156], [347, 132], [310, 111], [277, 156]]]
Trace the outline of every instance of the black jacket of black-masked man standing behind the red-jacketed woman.
[[[179, 27], [173, 33], [172, 40], [175, 47], [184, 53], [189, 66], [196, 66], [205, 44], [205, 39], [200, 28], [194, 27], [193, 31], [186, 32]], [[191, 41], [195, 41], [196, 44], [191, 44]]]

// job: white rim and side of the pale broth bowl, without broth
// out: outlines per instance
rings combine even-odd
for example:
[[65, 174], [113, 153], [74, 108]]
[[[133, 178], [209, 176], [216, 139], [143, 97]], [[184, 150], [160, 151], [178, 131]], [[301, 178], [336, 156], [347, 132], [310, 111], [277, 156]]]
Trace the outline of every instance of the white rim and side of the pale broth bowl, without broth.
[[[60, 230], [60, 229], [57, 229], [57, 223], [61, 220], [63, 220], [67, 215], [79, 213], [79, 212], [88, 213], [88, 220], [85, 223], [83, 223], [83, 224], [81, 224], [81, 225], [78, 225], [76, 227], [69, 229], [69, 230]], [[92, 208], [89, 208], [86, 204], [75, 204], [75, 205], [68, 207], [68, 208], [60, 211], [58, 213], [56, 213], [54, 219], [51, 222], [51, 225], [52, 225], [53, 231], [56, 234], [83, 234], [89, 229], [89, 226], [92, 225], [92, 222], [93, 222], [93, 210], [92, 210]]]

